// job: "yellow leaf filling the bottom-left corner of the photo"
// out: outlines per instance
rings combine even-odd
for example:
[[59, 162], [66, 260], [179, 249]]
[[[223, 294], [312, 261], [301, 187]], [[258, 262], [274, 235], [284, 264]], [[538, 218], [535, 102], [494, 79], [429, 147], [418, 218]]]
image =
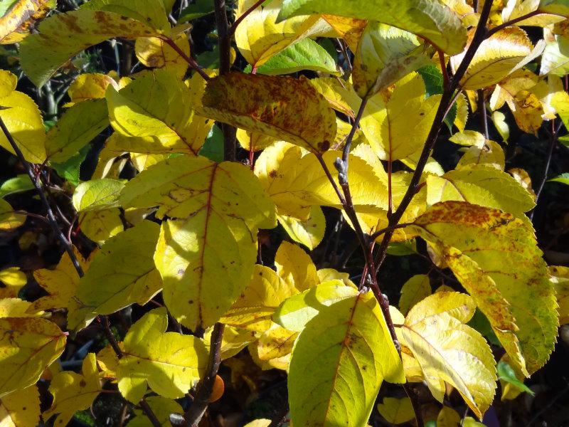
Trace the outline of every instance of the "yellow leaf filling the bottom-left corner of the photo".
[[40, 423], [40, 396], [36, 386], [13, 391], [0, 399], [0, 426], [28, 427]]

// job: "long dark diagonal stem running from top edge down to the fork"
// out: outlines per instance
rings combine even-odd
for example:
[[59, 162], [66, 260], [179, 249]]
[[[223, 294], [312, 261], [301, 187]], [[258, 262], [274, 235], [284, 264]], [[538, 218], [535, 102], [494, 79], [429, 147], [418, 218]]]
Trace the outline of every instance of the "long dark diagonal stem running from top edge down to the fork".
[[[403, 217], [403, 214], [405, 213], [405, 209], [408, 208], [409, 204], [413, 200], [413, 196], [415, 196], [415, 194], [418, 191], [419, 188], [418, 186], [422, 172], [425, 170], [425, 166], [429, 159], [430, 153], [432, 149], [435, 147], [435, 144], [437, 142], [437, 137], [439, 136], [442, 123], [445, 120], [445, 115], [447, 113], [447, 110], [450, 109], [450, 105], [452, 105], [452, 102], [454, 102], [454, 100], [456, 99], [456, 97], [454, 96], [454, 90], [456, 90], [459, 87], [460, 79], [462, 78], [462, 76], [464, 76], [464, 73], [466, 73], [468, 66], [471, 63], [472, 58], [474, 58], [474, 54], [476, 53], [480, 44], [486, 38], [486, 34], [488, 32], [486, 30], [486, 23], [488, 22], [490, 16], [491, 6], [492, 6], [491, 1], [484, 2], [484, 6], [482, 7], [482, 11], [480, 13], [480, 19], [478, 21], [478, 26], [476, 28], [476, 31], [474, 31], [474, 36], [472, 38], [470, 46], [468, 46], [466, 53], [464, 53], [464, 57], [462, 58], [462, 61], [457, 69], [457, 72], [454, 73], [452, 80], [450, 80], [449, 87], [447, 88], [447, 90], [444, 90], [442, 93], [439, 107], [437, 108], [437, 112], [435, 113], [435, 120], [433, 120], [432, 122], [429, 135], [427, 135], [425, 145], [423, 146], [421, 155], [417, 162], [417, 167], [415, 169], [415, 172], [411, 177], [408, 189], [407, 191], [405, 191], [405, 195], [403, 196], [403, 199], [401, 199], [401, 202], [398, 208], [395, 210], [395, 213], [389, 218], [389, 227], [391, 228], [393, 228], [393, 226], [396, 226], [399, 223], [399, 221]], [[375, 271], [376, 274], [378, 273], [379, 268], [381, 268], [383, 260], [385, 260], [385, 254], [387, 253], [387, 248], [389, 246], [391, 238], [393, 237], [394, 231], [395, 231], [394, 228], [392, 230], [386, 231], [383, 236], [383, 240], [381, 241], [381, 245], [379, 246], [378, 254], [376, 257], [377, 260], [376, 271]]]

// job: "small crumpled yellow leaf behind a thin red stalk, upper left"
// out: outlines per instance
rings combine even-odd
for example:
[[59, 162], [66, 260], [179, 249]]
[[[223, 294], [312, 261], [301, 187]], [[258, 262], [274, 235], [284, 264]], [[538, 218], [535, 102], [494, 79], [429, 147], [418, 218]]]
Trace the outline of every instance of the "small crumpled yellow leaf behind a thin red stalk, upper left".
[[[190, 56], [190, 43], [185, 33], [174, 38], [176, 46], [186, 56]], [[188, 63], [182, 56], [174, 51], [168, 43], [158, 37], [140, 37], [134, 43], [134, 53], [140, 62], [149, 68], [167, 67], [174, 74], [183, 78], [188, 70]]]

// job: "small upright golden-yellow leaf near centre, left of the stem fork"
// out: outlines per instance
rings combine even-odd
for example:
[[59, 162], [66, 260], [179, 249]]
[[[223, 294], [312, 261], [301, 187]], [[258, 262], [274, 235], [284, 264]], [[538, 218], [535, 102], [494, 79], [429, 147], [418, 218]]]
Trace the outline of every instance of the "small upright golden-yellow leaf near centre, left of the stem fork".
[[275, 266], [279, 277], [298, 292], [319, 283], [314, 263], [299, 246], [283, 241], [275, 255]]

